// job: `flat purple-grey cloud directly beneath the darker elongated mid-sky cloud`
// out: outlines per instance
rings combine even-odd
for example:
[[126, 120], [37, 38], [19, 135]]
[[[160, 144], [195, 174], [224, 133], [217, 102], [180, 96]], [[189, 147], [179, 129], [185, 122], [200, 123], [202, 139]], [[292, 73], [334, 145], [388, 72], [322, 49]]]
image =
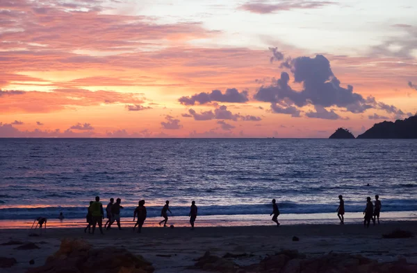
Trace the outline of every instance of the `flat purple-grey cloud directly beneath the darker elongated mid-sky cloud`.
[[189, 114], [182, 114], [183, 117], [193, 117], [195, 121], [211, 121], [212, 119], [227, 119], [231, 121], [261, 121], [259, 116], [233, 114], [227, 109], [226, 105], [218, 106], [214, 112], [212, 110], [197, 113], [194, 109], [188, 109]]

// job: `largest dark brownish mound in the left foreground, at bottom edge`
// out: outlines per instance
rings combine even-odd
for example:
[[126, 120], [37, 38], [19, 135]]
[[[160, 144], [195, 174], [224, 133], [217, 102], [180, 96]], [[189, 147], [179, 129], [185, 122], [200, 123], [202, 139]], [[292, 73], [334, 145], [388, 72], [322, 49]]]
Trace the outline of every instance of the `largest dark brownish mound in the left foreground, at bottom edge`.
[[84, 240], [64, 239], [58, 252], [47, 258], [44, 265], [28, 270], [28, 273], [41, 272], [151, 273], [154, 267], [142, 256], [135, 256], [126, 249], [93, 249]]

